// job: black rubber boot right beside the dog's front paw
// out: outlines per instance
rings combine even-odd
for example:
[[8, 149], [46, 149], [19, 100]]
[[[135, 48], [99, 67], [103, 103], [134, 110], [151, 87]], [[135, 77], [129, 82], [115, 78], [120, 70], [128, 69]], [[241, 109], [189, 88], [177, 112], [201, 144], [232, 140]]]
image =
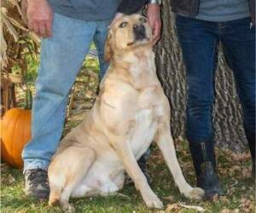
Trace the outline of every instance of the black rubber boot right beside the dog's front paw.
[[214, 195], [223, 195], [216, 175], [216, 162], [213, 150], [213, 143], [201, 142], [189, 144], [193, 158], [197, 187], [205, 190], [205, 199], [212, 199]]

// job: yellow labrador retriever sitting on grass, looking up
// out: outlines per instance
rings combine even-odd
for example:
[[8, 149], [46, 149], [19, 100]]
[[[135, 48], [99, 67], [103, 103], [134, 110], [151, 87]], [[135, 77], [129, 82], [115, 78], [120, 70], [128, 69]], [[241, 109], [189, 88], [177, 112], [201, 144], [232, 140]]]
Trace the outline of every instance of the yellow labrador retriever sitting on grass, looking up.
[[63, 138], [49, 164], [49, 205], [60, 202], [72, 211], [70, 197], [116, 192], [124, 185], [126, 171], [146, 205], [162, 208], [137, 164], [153, 140], [179, 191], [200, 199], [203, 190], [189, 186], [177, 162], [170, 106], [156, 75], [148, 20], [140, 14], [116, 20], [105, 50], [110, 66], [95, 105]]

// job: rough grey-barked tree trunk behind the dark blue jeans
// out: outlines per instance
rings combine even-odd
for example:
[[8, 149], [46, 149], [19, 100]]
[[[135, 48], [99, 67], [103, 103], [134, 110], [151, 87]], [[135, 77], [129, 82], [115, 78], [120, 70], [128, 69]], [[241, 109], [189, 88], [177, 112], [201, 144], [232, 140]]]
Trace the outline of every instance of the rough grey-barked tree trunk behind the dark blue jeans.
[[[156, 47], [156, 65], [160, 82], [165, 89], [172, 107], [172, 135], [185, 135], [186, 78], [182, 52], [177, 42], [174, 26], [175, 17], [170, 2], [163, 1], [163, 30]], [[241, 105], [236, 95], [233, 73], [224, 61], [219, 49], [218, 68], [215, 76], [215, 102], [212, 111], [214, 137], [219, 147], [235, 151], [245, 148], [246, 138], [242, 127]]]

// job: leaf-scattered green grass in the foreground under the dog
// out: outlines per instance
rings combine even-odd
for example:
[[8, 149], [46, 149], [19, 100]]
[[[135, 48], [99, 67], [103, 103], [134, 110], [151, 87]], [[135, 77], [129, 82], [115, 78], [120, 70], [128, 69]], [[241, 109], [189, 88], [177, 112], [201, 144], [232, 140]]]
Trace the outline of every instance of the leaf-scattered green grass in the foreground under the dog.
[[[209, 201], [191, 201], [184, 198], [175, 187], [172, 176], [164, 164], [160, 151], [153, 146], [148, 159], [149, 173], [152, 176], [154, 192], [165, 204], [165, 211], [148, 210], [143, 199], [133, 186], [125, 185], [119, 195], [84, 199], [71, 199], [77, 212], [197, 212], [183, 208], [180, 204], [201, 206], [206, 212], [253, 212], [254, 183], [250, 176], [248, 153], [231, 153], [218, 150], [220, 181], [225, 195]], [[191, 185], [195, 185], [191, 158], [187, 145], [177, 141], [177, 155], [183, 173]], [[228, 158], [226, 158], [229, 156]], [[237, 160], [238, 159], [238, 160]], [[236, 164], [234, 164], [236, 161]], [[1, 212], [61, 212], [60, 208], [50, 208], [46, 201], [27, 198], [23, 193], [24, 178], [21, 170], [2, 164]]]

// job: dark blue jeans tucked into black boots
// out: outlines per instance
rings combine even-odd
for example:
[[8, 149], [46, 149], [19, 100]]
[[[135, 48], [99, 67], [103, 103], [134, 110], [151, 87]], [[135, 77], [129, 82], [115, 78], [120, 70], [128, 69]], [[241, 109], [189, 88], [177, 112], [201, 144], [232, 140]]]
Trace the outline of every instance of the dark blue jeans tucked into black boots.
[[189, 142], [212, 139], [213, 78], [221, 42], [234, 72], [247, 139], [254, 135], [255, 143], [255, 27], [250, 19], [211, 22], [177, 15], [176, 26], [186, 66]]

